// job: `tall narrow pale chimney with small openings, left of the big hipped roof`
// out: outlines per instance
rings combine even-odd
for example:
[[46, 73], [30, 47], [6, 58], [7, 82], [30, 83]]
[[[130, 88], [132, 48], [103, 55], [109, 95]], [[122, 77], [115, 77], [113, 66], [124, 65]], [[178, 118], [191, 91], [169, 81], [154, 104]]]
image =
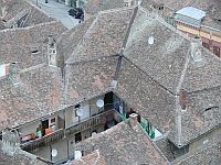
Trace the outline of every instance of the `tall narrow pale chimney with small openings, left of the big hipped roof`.
[[49, 65], [50, 66], [57, 66], [56, 42], [52, 37], [52, 35], [49, 36], [48, 58], [49, 58]]

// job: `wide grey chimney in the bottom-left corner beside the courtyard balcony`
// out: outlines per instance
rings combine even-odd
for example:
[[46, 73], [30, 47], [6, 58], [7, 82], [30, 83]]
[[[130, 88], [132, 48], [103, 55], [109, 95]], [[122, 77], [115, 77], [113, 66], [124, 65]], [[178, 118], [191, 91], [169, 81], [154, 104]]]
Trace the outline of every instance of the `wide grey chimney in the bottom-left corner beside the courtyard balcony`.
[[10, 153], [14, 153], [20, 146], [20, 138], [17, 130], [3, 130], [2, 131], [3, 150]]

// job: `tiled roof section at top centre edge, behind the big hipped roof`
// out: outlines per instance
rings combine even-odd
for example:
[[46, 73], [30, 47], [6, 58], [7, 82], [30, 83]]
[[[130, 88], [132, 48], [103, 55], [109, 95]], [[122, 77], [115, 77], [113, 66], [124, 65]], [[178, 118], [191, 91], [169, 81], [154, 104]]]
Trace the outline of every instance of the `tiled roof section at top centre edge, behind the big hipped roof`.
[[126, 7], [125, 0], [87, 0], [85, 11], [93, 15], [99, 11], [123, 7]]

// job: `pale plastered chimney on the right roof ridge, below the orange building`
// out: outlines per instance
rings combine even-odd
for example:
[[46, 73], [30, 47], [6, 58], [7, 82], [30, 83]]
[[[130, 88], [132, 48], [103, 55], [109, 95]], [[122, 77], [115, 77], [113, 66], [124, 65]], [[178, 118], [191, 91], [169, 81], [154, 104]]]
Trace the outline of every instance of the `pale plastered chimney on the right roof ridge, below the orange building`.
[[194, 63], [202, 62], [202, 41], [199, 36], [192, 38], [191, 42], [191, 56]]

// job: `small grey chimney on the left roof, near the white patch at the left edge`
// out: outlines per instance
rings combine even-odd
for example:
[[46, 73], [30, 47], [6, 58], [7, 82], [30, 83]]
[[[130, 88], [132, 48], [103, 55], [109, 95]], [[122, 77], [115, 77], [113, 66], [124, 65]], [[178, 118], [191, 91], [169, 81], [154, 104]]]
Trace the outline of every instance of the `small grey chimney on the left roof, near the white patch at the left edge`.
[[13, 86], [19, 86], [20, 84], [20, 68], [19, 68], [19, 63], [13, 62], [10, 64], [10, 75], [9, 78], [11, 79]]

